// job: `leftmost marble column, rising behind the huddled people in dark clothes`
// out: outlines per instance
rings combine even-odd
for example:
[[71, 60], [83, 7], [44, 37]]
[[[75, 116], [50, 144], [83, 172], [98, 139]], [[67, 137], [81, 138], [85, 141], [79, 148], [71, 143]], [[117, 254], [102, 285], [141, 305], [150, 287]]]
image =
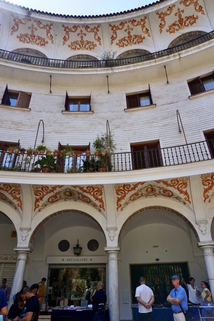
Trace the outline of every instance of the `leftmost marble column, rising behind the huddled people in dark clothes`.
[[15, 247], [14, 251], [17, 253], [18, 256], [16, 261], [16, 268], [13, 277], [13, 284], [10, 293], [8, 309], [13, 304], [13, 294], [19, 292], [22, 288], [28, 254], [32, 252], [32, 249], [30, 247]]

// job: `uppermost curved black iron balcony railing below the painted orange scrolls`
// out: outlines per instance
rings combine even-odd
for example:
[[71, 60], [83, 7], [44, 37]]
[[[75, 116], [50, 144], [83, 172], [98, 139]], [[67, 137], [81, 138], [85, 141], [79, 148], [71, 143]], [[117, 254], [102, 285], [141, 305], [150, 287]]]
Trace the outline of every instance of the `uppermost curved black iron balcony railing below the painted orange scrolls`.
[[214, 38], [214, 30], [206, 33], [203, 36], [200, 36], [196, 39], [185, 42], [184, 44], [167, 48], [161, 51], [130, 57], [130, 58], [121, 58], [121, 59], [110, 59], [110, 60], [87, 60], [87, 61], [76, 61], [76, 60], [60, 60], [60, 59], [49, 59], [28, 56], [23, 54], [17, 54], [7, 50], [0, 49], [0, 58], [19, 61], [21, 63], [27, 63], [32, 65], [48, 66], [48, 67], [59, 67], [59, 68], [98, 68], [98, 67], [111, 67], [111, 66], [123, 66], [128, 64], [134, 64], [141, 61], [146, 61], [150, 59], [155, 59], [158, 57], [168, 56], [175, 52], [191, 48], [195, 45], [198, 45], [204, 41]]

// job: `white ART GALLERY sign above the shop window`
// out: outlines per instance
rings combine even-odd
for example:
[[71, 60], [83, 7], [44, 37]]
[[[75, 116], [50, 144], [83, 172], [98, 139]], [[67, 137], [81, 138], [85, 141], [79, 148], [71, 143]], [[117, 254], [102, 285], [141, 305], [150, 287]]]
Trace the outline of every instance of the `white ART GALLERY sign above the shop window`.
[[107, 263], [107, 256], [47, 256], [47, 263]]

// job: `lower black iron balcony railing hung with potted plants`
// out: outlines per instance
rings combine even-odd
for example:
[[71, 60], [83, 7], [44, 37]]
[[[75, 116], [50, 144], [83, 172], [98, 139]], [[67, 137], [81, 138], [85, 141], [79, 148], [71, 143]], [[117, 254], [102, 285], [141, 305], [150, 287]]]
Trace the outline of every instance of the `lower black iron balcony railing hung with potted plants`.
[[22, 155], [0, 151], [0, 170], [81, 173], [98, 171], [127, 171], [160, 166], [187, 164], [214, 158], [214, 139], [160, 149], [119, 152], [96, 156], [85, 152], [70, 155]]

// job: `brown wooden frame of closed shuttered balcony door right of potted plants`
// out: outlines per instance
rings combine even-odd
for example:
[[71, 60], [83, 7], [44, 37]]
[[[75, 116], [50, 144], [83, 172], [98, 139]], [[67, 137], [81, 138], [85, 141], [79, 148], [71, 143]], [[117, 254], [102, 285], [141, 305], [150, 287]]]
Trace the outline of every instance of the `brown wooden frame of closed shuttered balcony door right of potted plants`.
[[[142, 151], [138, 151], [138, 152], [145, 152], [144, 153], [144, 157], [145, 157], [145, 167], [142, 168], [136, 168], [136, 169], [144, 169], [144, 168], [153, 168], [153, 167], [158, 167], [158, 166], [150, 166], [150, 162], [149, 162], [149, 158], [148, 158], [148, 152], [150, 151], [150, 149], [147, 149], [147, 146], [151, 146], [151, 145], [157, 145], [158, 148], [154, 148], [152, 150], [158, 150], [158, 155], [159, 155], [159, 161], [160, 161], [160, 165], [158, 166], [163, 166], [163, 159], [162, 159], [162, 154], [161, 154], [161, 150], [160, 150], [160, 142], [152, 142], [152, 143], [143, 143], [143, 144], [133, 144], [131, 145], [131, 153], [132, 153], [132, 168], [135, 169], [135, 162], [134, 162], [134, 148], [135, 147], [144, 147], [144, 149], [142, 149]], [[148, 152], [147, 152], [148, 151]]]

